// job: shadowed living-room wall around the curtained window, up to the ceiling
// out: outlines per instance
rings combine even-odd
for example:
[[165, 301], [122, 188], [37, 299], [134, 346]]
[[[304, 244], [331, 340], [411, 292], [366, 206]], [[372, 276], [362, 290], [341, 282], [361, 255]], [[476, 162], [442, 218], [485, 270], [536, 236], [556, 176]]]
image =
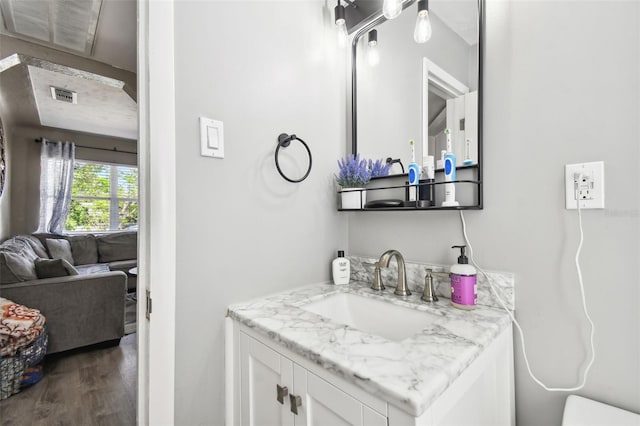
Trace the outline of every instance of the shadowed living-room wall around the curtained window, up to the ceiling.
[[[134, 73], [21, 40], [0, 36], [0, 57], [22, 53], [53, 63], [125, 81], [135, 89]], [[19, 101], [18, 101], [19, 100]], [[40, 145], [36, 138], [68, 140], [78, 145], [137, 152], [135, 140], [67, 131], [40, 125], [26, 66], [0, 75], [0, 116], [7, 134], [8, 185], [0, 199], [0, 241], [38, 228], [40, 208]], [[137, 164], [137, 155], [78, 148], [77, 159]]]

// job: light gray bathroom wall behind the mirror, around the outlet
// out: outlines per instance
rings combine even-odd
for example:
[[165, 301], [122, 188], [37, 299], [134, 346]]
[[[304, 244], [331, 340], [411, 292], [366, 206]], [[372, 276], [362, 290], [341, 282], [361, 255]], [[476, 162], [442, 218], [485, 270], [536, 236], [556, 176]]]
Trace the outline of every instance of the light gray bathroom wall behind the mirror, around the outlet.
[[[580, 395], [640, 412], [640, 3], [489, 1], [485, 209], [465, 213], [477, 261], [516, 274], [535, 374], [576, 385], [589, 357], [564, 165], [605, 161], [606, 209], [583, 212], [581, 255], [596, 361]], [[455, 262], [453, 212], [350, 213], [349, 249]], [[516, 342], [518, 425], [557, 425], [567, 393], [528, 376]]]

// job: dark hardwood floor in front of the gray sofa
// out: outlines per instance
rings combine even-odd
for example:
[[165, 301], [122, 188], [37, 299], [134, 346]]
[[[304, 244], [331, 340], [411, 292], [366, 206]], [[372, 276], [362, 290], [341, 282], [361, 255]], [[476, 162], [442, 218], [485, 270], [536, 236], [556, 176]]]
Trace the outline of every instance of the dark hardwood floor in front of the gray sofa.
[[119, 346], [47, 357], [44, 378], [0, 401], [0, 424], [136, 424], [136, 334]]

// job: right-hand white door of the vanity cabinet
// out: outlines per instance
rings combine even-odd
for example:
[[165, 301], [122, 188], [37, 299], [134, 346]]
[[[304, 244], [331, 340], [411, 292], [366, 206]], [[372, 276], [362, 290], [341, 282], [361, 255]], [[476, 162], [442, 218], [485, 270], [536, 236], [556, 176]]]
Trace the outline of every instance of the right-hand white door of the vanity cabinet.
[[296, 426], [387, 426], [386, 417], [294, 364], [294, 392], [303, 395]]

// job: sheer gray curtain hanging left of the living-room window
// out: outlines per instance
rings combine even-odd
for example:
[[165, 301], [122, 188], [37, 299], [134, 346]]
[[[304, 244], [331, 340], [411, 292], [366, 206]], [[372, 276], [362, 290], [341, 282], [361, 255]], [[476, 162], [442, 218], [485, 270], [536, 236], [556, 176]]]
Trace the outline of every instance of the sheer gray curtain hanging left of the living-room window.
[[61, 234], [71, 207], [73, 163], [72, 142], [42, 139], [40, 151], [40, 223], [38, 232]]

